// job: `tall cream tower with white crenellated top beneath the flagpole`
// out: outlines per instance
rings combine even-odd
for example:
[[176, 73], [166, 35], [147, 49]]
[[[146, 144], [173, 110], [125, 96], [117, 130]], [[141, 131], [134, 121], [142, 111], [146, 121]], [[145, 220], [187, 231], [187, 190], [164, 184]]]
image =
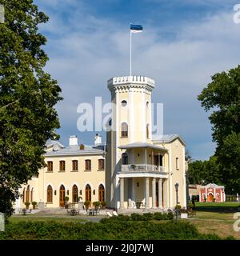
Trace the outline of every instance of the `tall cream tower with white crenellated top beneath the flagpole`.
[[[108, 184], [106, 201], [108, 206], [119, 208], [123, 206], [120, 206], [119, 178], [121, 175], [118, 174], [129, 170], [129, 164], [138, 165], [138, 168], [146, 170], [154, 161], [154, 152], [156, 153], [157, 150], [160, 152], [162, 148], [151, 145], [151, 92], [154, 89], [154, 80], [142, 76], [115, 77], [108, 81], [108, 89], [111, 93], [113, 113], [109, 124], [111, 129], [106, 138], [106, 184]], [[151, 155], [150, 158], [147, 157], [149, 155]], [[155, 154], [155, 158], [158, 161], [160, 153]], [[123, 198], [130, 197], [129, 194], [135, 194], [132, 186], [136, 183], [134, 180], [138, 180], [136, 178], [138, 177], [134, 175], [123, 178], [125, 180]], [[146, 184], [144, 180], [137, 184], [141, 182], [142, 191], [139, 193], [143, 195]], [[133, 190], [132, 193], [129, 190]], [[133, 197], [134, 195], [130, 200]], [[127, 202], [128, 199], [125, 201]]]

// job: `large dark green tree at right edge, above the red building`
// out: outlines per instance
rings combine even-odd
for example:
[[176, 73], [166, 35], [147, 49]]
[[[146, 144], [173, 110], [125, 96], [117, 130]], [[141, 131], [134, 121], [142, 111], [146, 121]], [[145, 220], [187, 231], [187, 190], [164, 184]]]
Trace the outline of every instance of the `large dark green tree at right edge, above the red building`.
[[240, 66], [214, 74], [198, 95], [204, 110], [211, 111], [213, 140], [219, 177], [227, 191], [240, 191]]

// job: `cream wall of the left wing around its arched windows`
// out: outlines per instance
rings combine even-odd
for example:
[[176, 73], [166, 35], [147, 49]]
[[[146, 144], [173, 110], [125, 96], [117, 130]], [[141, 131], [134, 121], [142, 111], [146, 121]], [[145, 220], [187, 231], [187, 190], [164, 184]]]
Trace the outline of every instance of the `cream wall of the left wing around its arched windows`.
[[[91, 160], [91, 170], [85, 170], [85, 160]], [[78, 196], [82, 196], [85, 201], [85, 186], [89, 184], [92, 190], [92, 202], [98, 201], [98, 186], [105, 186], [105, 170], [98, 170], [98, 159], [104, 159], [102, 154], [99, 155], [81, 155], [81, 156], [66, 156], [66, 157], [46, 157], [45, 161], [53, 161], [53, 172], [47, 172], [47, 168], [39, 171], [38, 178], [34, 178], [28, 182], [30, 188], [34, 187], [34, 198], [36, 202], [46, 202], [46, 190], [50, 185], [53, 191], [56, 190], [56, 195], [53, 194], [53, 203], [48, 203], [47, 207], [59, 206], [59, 189], [60, 186], [65, 186], [66, 196], [72, 202], [72, 187], [78, 186]], [[59, 161], [66, 161], [66, 170], [59, 171]], [[72, 170], [72, 160], [78, 160], [78, 171]], [[22, 186], [23, 188], [26, 186]], [[69, 190], [69, 194], [67, 194]], [[82, 195], [80, 195], [82, 190]], [[93, 191], [95, 190], [95, 195]], [[23, 203], [22, 203], [23, 206]]]

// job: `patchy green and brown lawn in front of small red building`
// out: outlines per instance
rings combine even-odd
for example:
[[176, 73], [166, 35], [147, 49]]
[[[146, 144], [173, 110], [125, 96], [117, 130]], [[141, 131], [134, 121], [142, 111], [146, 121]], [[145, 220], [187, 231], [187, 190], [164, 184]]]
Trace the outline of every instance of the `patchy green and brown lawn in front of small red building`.
[[239, 202], [197, 202], [196, 218], [186, 222], [194, 224], [202, 234], [218, 234], [221, 238], [233, 236], [240, 239], [240, 231], [234, 231], [234, 213], [238, 211]]

